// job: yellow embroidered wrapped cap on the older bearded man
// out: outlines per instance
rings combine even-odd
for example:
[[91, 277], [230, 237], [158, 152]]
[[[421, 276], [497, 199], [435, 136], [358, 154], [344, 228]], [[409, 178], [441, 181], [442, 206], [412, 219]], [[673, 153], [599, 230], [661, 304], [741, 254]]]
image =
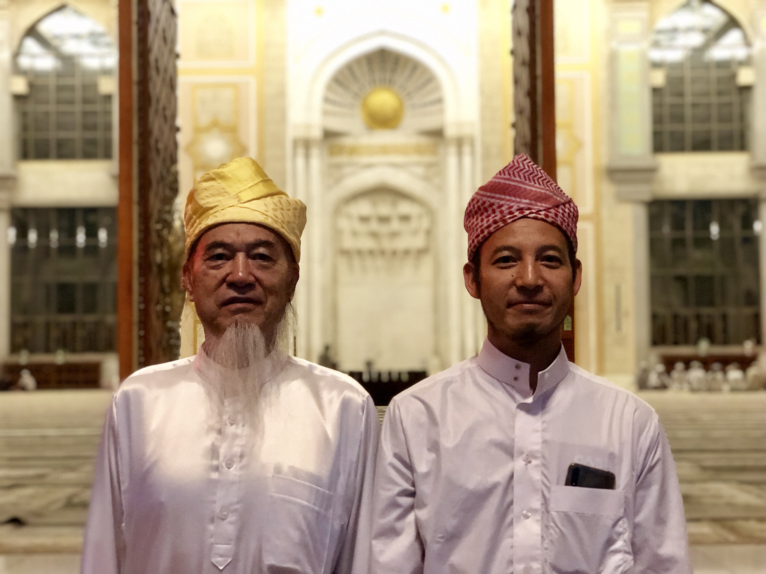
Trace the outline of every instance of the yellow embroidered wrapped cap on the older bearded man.
[[184, 211], [186, 257], [206, 230], [221, 223], [258, 223], [293, 249], [300, 262], [300, 235], [306, 227], [306, 205], [270, 180], [252, 158], [237, 158], [203, 174], [189, 191]]

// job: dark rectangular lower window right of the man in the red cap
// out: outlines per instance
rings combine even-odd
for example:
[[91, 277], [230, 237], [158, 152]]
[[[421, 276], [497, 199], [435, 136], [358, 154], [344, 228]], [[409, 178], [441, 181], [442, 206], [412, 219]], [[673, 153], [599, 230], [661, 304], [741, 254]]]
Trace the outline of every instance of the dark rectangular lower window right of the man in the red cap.
[[758, 201], [650, 204], [652, 344], [760, 342]]

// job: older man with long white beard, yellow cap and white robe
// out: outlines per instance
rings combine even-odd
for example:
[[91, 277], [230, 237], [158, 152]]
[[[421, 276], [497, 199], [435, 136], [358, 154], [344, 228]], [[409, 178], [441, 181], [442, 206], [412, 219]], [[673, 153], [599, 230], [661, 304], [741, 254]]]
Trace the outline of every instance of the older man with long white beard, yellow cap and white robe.
[[283, 351], [305, 223], [249, 158], [195, 182], [183, 279], [205, 343], [115, 393], [83, 574], [366, 571], [375, 406]]

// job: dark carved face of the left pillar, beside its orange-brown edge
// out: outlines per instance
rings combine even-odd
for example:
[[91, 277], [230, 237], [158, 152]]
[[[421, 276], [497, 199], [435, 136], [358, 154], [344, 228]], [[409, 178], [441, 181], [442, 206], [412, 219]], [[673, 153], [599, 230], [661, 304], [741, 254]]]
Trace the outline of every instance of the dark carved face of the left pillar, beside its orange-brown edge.
[[138, 366], [178, 357], [183, 227], [175, 142], [175, 11], [170, 0], [137, 2]]

